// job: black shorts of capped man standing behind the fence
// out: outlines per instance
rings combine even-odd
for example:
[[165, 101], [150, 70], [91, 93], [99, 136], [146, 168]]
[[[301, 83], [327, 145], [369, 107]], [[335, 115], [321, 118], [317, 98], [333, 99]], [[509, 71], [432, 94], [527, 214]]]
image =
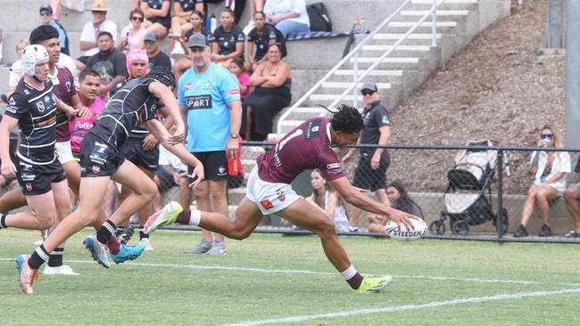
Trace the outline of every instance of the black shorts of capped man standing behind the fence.
[[386, 169], [391, 164], [391, 157], [388, 153], [383, 153], [378, 168], [373, 170], [370, 167], [370, 159], [372, 159], [372, 156], [372, 152], [360, 152], [359, 166], [356, 167], [356, 171], [354, 172], [352, 185], [375, 192], [377, 189], [386, 188]]

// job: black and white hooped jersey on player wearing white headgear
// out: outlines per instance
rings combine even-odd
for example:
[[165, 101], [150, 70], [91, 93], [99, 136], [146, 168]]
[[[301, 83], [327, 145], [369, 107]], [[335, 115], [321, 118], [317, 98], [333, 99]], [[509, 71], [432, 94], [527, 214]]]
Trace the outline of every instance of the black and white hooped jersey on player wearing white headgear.
[[10, 96], [4, 113], [18, 119], [21, 145], [18, 157], [33, 165], [50, 164], [56, 158], [56, 102], [53, 83], [47, 79], [41, 91], [29, 86], [24, 78]]

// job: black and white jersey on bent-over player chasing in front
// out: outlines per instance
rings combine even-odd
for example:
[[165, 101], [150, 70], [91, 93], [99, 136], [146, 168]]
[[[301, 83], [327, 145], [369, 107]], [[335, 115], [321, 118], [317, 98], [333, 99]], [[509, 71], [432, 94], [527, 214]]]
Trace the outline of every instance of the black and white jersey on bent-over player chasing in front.
[[109, 99], [90, 133], [119, 148], [137, 124], [156, 118], [158, 99], [149, 92], [154, 81], [152, 77], [129, 80]]

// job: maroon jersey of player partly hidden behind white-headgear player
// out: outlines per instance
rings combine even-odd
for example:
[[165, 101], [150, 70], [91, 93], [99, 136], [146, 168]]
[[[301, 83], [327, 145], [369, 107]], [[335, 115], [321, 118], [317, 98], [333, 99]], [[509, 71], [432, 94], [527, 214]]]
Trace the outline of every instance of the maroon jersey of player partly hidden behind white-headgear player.
[[[77, 94], [74, 78], [70, 70], [65, 67], [56, 66], [56, 76], [48, 76], [53, 82], [53, 92], [62, 102], [72, 105], [72, 96]], [[56, 142], [62, 143], [70, 141], [69, 118], [61, 110], [56, 116]]]

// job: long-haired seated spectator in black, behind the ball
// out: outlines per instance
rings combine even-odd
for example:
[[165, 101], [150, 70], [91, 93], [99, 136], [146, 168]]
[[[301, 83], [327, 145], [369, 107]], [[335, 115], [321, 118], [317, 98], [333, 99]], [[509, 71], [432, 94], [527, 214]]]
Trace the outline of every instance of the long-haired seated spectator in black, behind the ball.
[[[402, 183], [394, 181], [386, 186], [386, 197], [391, 202], [391, 207], [402, 210], [412, 216], [423, 218], [423, 211], [402, 186]], [[386, 216], [370, 216], [369, 232], [385, 232], [385, 224], [389, 219]]]

